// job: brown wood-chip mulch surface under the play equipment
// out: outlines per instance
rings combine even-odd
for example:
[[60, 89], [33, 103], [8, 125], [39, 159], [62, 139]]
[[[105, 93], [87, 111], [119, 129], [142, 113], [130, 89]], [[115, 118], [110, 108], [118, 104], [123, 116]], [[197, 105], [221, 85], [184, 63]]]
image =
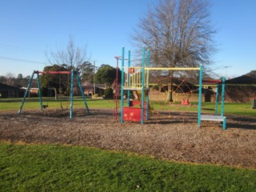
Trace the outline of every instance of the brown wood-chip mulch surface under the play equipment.
[[202, 122], [197, 114], [158, 113], [150, 121], [124, 122], [113, 110], [5, 111], [0, 113], [0, 141], [70, 144], [121, 150], [178, 162], [196, 162], [256, 169], [256, 119], [227, 116]]

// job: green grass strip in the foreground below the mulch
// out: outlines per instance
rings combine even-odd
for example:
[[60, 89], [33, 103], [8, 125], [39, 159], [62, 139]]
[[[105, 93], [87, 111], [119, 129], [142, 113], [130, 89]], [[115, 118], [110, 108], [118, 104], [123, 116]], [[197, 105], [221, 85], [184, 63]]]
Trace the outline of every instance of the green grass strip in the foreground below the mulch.
[[0, 191], [256, 191], [256, 170], [0, 142]]

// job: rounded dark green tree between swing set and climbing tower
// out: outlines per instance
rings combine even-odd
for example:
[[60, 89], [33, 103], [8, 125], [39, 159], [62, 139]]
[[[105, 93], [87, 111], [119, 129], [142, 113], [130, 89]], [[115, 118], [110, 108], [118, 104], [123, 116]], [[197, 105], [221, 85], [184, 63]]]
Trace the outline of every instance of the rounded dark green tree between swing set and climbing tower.
[[[118, 69], [118, 81], [120, 82], [121, 70]], [[116, 68], [110, 65], [102, 64], [95, 74], [95, 80], [98, 83], [106, 83], [110, 87], [116, 78]]]

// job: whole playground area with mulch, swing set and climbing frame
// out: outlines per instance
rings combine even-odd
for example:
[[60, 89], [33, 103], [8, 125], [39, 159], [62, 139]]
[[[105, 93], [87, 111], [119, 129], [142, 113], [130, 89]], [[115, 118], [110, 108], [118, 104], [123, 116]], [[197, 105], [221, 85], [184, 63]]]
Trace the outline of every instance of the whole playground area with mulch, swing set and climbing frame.
[[[177, 162], [256, 169], [255, 116], [245, 115], [246, 112], [254, 114], [254, 110], [247, 110], [249, 107], [246, 106], [248, 108], [243, 109], [245, 112], [242, 114], [224, 115], [225, 78], [214, 81], [215, 101], [210, 104], [212, 109], [206, 111], [204, 110], [206, 103], [202, 102], [202, 66], [150, 68], [150, 51], [146, 53], [145, 48], [143, 48], [142, 66], [130, 66], [130, 51], [128, 51], [128, 66], [125, 66], [124, 48], [122, 57], [116, 58], [117, 62], [118, 60], [122, 62], [121, 90], [118, 91], [116, 84], [114, 99], [106, 101], [105, 104], [98, 101], [102, 103], [98, 107], [91, 107], [90, 102], [91, 104], [93, 102], [89, 101], [90, 110], [76, 71], [34, 71], [30, 82], [33, 76], [37, 75], [38, 87], [40, 87], [39, 74], [68, 73], [71, 74], [70, 90], [73, 90], [75, 76], [82, 93], [81, 105], [74, 107], [73, 91], [71, 91], [70, 107], [50, 108], [51, 103], [48, 108], [47, 102], [47, 108], [43, 109], [43, 99], [39, 91], [40, 110], [27, 109], [26, 93], [18, 114], [17, 110], [0, 111], [0, 140], [92, 146], [104, 150], [145, 154]], [[168, 83], [158, 82], [161, 86], [152, 91], [150, 71], [153, 70], [172, 71], [171, 73], [179, 71], [183, 78], [177, 80], [173, 78], [170, 90], [167, 87]], [[198, 82], [194, 82], [194, 85], [186, 80], [189, 78], [184, 78], [187, 71], [198, 74]], [[221, 93], [218, 91], [219, 88], [222, 90]], [[166, 93], [170, 91], [174, 93], [173, 102], [162, 100], [158, 101], [162, 104], [152, 105], [151, 100], [166, 98]], [[152, 99], [152, 93], [155, 94], [155, 99]], [[132, 94], [134, 98], [131, 99]], [[97, 102], [94, 101], [95, 103]], [[104, 108], [106, 103], [112, 105]], [[22, 111], [23, 105], [25, 110]], [[235, 108], [237, 112], [242, 112], [241, 109]]]

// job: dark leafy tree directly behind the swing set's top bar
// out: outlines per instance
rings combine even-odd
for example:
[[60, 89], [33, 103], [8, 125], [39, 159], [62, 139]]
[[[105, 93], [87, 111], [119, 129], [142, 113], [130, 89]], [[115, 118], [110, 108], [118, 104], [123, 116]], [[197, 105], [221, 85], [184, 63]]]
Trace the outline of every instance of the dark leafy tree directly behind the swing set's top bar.
[[[65, 66], [45, 66], [43, 71], [65, 71]], [[42, 74], [40, 81], [42, 88], [48, 90], [54, 89], [55, 100], [58, 100], [58, 94], [68, 94], [69, 92], [69, 78], [68, 74]]]

